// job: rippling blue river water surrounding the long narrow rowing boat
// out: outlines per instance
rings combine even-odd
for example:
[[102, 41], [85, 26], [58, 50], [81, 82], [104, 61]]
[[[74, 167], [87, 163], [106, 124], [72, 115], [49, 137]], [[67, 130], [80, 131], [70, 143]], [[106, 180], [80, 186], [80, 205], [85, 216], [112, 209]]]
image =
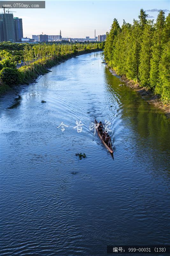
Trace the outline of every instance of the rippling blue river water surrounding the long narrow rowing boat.
[[[102, 54], [53, 67], [10, 108], [1, 100], [3, 256], [103, 256], [107, 245], [170, 241], [170, 122], [119, 86]], [[111, 123], [113, 157], [95, 117]]]

